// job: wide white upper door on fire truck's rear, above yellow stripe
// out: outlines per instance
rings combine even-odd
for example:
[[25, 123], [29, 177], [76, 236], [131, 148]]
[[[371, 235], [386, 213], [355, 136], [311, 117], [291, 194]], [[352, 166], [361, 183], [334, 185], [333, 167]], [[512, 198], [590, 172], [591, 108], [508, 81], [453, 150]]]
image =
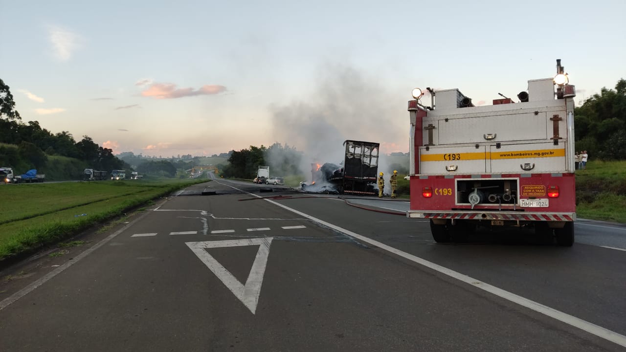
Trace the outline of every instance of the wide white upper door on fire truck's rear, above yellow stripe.
[[[449, 118], [438, 121], [438, 144], [545, 140], [546, 113]], [[550, 125], [552, 128], [552, 125]], [[489, 135], [493, 139], [488, 140]]]

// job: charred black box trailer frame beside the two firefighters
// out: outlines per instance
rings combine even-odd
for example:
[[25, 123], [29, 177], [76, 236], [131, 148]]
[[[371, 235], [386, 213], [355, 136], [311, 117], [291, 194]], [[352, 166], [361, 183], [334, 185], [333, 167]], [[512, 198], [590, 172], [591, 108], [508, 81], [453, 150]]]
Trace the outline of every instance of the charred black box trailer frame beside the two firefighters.
[[346, 140], [343, 167], [329, 182], [340, 194], [377, 194], [380, 143]]

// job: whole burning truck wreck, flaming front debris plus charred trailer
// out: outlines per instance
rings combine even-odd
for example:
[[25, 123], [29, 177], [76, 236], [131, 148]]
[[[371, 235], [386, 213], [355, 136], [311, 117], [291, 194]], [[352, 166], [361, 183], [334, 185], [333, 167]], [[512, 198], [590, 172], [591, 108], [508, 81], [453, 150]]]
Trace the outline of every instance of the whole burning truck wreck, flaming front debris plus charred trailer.
[[311, 164], [310, 184], [302, 182], [306, 192], [336, 192], [338, 194], [374, 195], [378, 173], [380, 143], [346, 140], [341, 165], [334, 163]]

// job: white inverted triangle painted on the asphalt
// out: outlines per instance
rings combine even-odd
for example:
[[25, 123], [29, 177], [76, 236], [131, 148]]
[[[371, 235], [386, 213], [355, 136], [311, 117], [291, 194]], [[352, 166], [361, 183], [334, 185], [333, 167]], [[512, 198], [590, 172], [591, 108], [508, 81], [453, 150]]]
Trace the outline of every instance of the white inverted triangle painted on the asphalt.
[[[265, 274], [265, 266], [270, 253], [270, 245], [274, 237], [262, 237], [255, 239], [237, 239], [227, 241], [203, 241], [203, 242], [186, 242], [187, 246], [195, 253], [198, 258], [215, 274], [223, 284], [233, 292], [244, 305], [250, 309], [252, 314], [257, 310], [259, 303], [259, 295], [261, 293], [261, 285], [263, 284], [263, 276]], [[220, 247], [240, 247], [240, 246], [259, 246], [257, 257], [252, 263], [250, 274], [245, 281], [245, 285], [239, 282], [222, 264], [220, 264], [213, 256], [205, 251], [206, 248]]]

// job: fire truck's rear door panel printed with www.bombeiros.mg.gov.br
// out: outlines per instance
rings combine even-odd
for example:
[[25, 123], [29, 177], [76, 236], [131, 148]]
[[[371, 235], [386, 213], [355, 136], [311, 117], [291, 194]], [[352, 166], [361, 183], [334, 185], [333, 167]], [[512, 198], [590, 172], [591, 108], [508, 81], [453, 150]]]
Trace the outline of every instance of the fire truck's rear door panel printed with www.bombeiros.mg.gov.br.
[[567, 140], [553, 142], [490, 145], [492, 173], [567, 172]]

